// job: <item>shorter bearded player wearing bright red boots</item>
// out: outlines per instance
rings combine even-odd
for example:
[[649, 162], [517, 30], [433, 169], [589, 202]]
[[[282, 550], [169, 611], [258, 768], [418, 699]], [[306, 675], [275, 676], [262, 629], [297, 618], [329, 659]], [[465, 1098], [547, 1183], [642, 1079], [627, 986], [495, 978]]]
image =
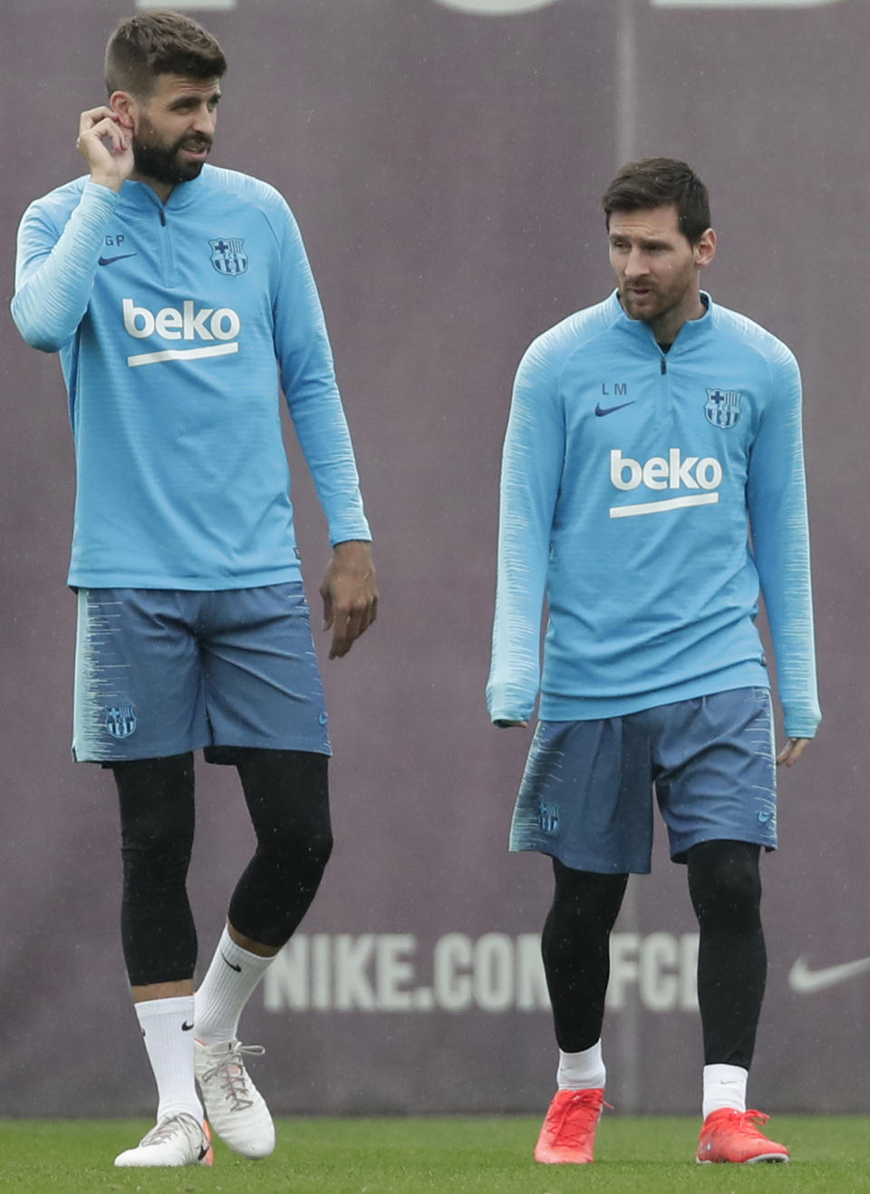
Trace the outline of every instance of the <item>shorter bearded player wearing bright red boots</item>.
[[[784, 1162], [746, 1083], [776, 764], [820, 720], [800, 374], [701, 290], [716, 235], [689, 166], [633, 162], [603, 207], [618, 289], [525, 353], [502, 463], [487, 696], [495, 725], [525, 726], [539, 695], [511, 848], [555, 872], [542, 953], [560, 1065], [535, 1156], [593, 1159], [609, 940], [628, 875], [649, 870], [654, 790], [701, 933], [697, 1159]], [[778, 756], [759, 589], [789, 736]]]

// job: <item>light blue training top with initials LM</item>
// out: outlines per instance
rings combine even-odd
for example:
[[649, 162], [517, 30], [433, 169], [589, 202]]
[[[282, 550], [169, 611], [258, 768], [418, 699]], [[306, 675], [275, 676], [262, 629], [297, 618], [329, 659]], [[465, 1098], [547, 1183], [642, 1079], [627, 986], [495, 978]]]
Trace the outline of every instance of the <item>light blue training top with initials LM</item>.
[[667, 353], [613, 294], [520, 363], [501, 476], [494, 721], [527, 720], [538, 690], [542, 720], [573, 721], [769, 685], [760, 579], [785, 732], [815, 733], [797, 363], [703, 298], [707, 313]]

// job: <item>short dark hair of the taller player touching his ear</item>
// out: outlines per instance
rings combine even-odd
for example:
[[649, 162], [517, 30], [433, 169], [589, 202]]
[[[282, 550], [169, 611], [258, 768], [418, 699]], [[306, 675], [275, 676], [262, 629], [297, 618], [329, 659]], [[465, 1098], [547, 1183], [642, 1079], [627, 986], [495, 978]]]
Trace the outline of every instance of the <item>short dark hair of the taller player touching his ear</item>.
[[123, 20], [106, 45], [106, 87], [147, 98], [160, 74], [220, 79], [227, 60], [217, 41], [190, 17], [168, 8]]

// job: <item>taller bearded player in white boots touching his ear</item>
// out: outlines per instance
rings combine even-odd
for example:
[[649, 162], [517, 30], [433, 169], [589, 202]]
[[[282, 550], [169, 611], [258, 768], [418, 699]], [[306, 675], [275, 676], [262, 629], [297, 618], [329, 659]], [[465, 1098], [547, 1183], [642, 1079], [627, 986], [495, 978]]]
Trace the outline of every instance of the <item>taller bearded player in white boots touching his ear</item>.
[[[122, 940], [158, 1085], [121, 1167], [211, 1161], [208, 1120], [274, 1146], [240, 1014], [304, 916], [332, 847], [327, 715], [295, 546], [284, 389], [329, 529], [329, 658], [374, 622], [353, 449], [296, 222], [272, 187], [206, 165], [226, 70], [200, 25], [123, 21], [109, 103], [82, 113], [88, 176], [36, 201], [12, 310], [60, 352], [76, 455], [74, 758], [111, 768]], [[193, 993], [186, 894], [193, 751], [236, 767], [257, 850]]]

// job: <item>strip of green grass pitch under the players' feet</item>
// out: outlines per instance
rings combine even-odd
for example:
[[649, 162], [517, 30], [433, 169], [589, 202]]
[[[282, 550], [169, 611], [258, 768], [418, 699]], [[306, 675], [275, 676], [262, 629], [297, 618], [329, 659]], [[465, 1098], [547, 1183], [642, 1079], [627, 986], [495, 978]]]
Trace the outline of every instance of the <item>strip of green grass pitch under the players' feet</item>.
[[536, 1165], [538, 1119], [282, 1119], [266, 1161], [220, 1143], [212, 1168], [115, 1169], [144, 1120], [0, 1120], [0, 1190], [18, 1194], [870, 1194], [870, 1116], [777, 1115], [789, 1165], [697, 1165], [697, 1120], [607, 1116], [594, 1165]]

